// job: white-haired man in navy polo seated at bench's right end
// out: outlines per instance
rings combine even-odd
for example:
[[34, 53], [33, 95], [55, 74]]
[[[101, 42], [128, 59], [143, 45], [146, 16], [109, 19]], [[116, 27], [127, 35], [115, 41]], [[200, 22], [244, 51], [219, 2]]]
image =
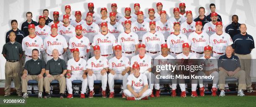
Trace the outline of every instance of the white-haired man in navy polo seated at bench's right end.
[[241, 70], [241, 65], [238, 56], [232, 54], [233, 49], [231, 46], [226, 47], [226, 54], [220, 56], [218, 60], [219, 67], [219, 84], [220, 96], [225, 96], [225, 78], [238, 79], [238, 96], [245, 96], [243, 90], [246, 90], [246, 74]]

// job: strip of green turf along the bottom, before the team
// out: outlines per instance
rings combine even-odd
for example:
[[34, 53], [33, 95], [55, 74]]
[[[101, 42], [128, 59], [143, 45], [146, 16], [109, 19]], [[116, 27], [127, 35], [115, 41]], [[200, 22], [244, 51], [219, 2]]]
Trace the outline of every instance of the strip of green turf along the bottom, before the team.
[[[19, 97], [1, 96], [0, 99], [16, 99]], [[212, 97], [206, 95], [204, 97], [190, 97], [186, 98], [170, 97], [162, 95], [161, 97], [151, 98], [150, 100], [127, 101], [126, 99], [115, 97], [113, 99], [94, 97], [80, 99], [75, 96], [73, 99], [59, 99], [58, 97], [51, 97], [48, 99], [38, 99], [37, 97], [29, 97], [26, 105], [0, 105], [0, 107], [123, 107], [123, 106], [147, 106], [147, 107], [170, 107], [170, 106], [230, 106], [230, 107], [256, 107], [256, 96], [238, 97], [236, 95], [228, 95], [225, 97]]]

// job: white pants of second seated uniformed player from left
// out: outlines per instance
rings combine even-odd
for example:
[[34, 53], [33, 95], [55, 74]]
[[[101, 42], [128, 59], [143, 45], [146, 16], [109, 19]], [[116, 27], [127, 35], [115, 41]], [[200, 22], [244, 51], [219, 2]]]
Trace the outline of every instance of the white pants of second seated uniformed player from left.
[[99, 74], [92, 74], [92, 76], [87, 75], [87, 80], [88, 80], [88, 85], [89, 85], [89, 89], [90, 91], [92, 91], [94, 89], [93, 85], [94, 85], [94, 80], [101, 80], [101, 88], [103, 91], [106, 90], [107, 87], [107, 82], [108, 82], [108, 74], [105, 73], [104, 75]]

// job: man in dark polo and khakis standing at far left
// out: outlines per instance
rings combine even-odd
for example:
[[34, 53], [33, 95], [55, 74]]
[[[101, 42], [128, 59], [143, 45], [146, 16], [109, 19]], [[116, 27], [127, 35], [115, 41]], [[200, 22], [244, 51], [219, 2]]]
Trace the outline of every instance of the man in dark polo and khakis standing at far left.
[[14, 85], [18, 96], [22, 96], [20, 89], [20, 58], [22, 57], [22, 46], [15, 41], [15, 32], [10, 32], [10, 41], [3, 46], [2, 54], [6, 59], [5, 63], [5, 97], [10, 96], [11, 79], [14, 79]]

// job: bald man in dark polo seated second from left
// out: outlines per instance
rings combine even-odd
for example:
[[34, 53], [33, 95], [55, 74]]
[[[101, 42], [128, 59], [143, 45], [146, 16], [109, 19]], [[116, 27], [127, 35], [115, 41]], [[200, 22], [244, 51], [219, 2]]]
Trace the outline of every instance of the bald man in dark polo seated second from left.
[[53, 58], [47, 61], [46, 63], [46, 77], [44, 78], [44, 88], [46, 95], [44, 98], [50, 98], [50, 83], [53, 80], [59, 81], [59, 93], [60, 98], [64, 97], [64, 92], [66, 90], [66, 78], [64, 75], [67, 72], [67, 64], [66, 62], [59, 58], [59, 51], [54, 49], [52, 51]]

